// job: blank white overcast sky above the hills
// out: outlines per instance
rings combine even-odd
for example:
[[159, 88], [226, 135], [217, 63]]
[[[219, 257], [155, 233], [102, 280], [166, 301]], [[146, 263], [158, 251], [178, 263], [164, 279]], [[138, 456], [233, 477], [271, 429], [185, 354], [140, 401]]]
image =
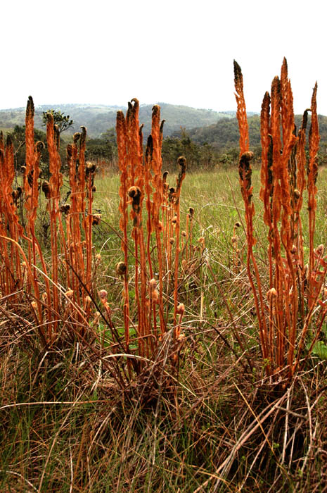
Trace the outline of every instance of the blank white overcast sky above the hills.
[[0, 108], [164, 101], [235, 110], [233, 58], [248, 111], [283, 56], [295, 112], [327, 115], [326, 4], [317, 0], [56, 0], [1, 5]]

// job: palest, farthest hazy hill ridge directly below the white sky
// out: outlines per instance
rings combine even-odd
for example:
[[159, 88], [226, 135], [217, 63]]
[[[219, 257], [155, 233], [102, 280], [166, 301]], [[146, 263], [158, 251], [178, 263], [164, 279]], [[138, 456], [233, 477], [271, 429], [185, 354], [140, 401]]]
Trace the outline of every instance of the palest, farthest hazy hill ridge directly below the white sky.
[[[215, 125], [218, 120], [224, 118], [233, 118], [235, 112], [219, 113], [213, 110], [191, 108], [189, 106], [177, 106], [174, 104], [159, 103], [161, 106], [161, 117], [165, 119], [164, 135], [171, 135], [178, 132], [180, 127], [186, 130], [194, 127], [207, 127]], [[143, 104], [140, 107], [140, 123], [144, 123], [143, 134], [147, 137], [150, 134], [150, 116], [152, 104]], [[98, 137], [105, 130], [115, 127], [116, 113], [119, 109], [126, 111], [124, 106], [105, 106], [91, 104], [60, 104], [60, 105], [42, 105], [35, 108], [35, 127], [44, 130], [42, 127], [42, 112], [49, 108], [63, 111], [74, 120], [72, 130], [68, 132], [77, 132], [81, 125], [85, 125], [90, 137]], [[0, 110], [0, 128], [13, 128], [15, 125], [24, 125], [25, 108], [13, 108], [9, 110]]]

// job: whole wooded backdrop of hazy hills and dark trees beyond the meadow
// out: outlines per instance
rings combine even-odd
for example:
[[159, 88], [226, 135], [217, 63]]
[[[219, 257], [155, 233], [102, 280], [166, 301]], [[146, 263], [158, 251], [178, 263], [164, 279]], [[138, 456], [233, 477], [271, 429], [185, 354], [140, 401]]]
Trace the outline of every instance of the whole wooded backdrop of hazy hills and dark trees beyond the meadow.
[[[51, 105], [38, 106], [35, 110], [35, 139], [45, 144], [42, 162], [47, 161], [46, 133], [44, 113], [53, 108]], [[117, 140], [115, 133], [116, 113], [120, 106], [104, 105], [56, 105], [57, 115], [70, 120], [70, 125], [60, 132], [63, 143], [70, 136], [86, 125], [88, 131], [86, 158], [102, 159], [117, 166]], [[151, 116], [151, 105], [140, 106], [140, 121], [144, 122], [143, 135], [150, 133], [148, 123]], [[167, 169], [174, 166], [179, 156], [186, 156], [190, 170], [212, 169], [214, 166], [228, 168], [238, 159], [238, 122], [235, 111], [217, 112], [196, 109], [188, 106], [177, 106], [160, 103], [162, 118], [165, 119], [164, 139], [162, 142], [163, 166]], [[309, 117], [310, 118], [310, 117]], [[319, 148], [319, 165], [327, 161], [327, 117], [319, 115], [319, 131], [321, 143]], [[295, 124], [300, 127], [302, 116], [295, 116]], [[10, 134], [15, 146], [15, 162], [23, 166], [25, 161], [25, 108], [12, 108], [0, 111], [0, 130]], [[255, 160], [261, 154], [260, 117], [259, 114], [248, 112], [249, 135]], [[144, 144], [146, 142], [144, 141]], [[61, 151], [65, 161], [65, 149]], [[46, 171], [46, 165], [43, 166]]]

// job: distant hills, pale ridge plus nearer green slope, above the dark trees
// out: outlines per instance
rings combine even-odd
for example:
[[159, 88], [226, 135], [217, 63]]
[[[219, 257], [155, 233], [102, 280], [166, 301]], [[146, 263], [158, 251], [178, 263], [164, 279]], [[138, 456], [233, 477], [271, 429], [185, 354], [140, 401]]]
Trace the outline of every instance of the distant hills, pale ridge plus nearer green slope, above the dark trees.
[[[167, 103], [158, 103], [161, 107], [161, 118], [165, 119], [165, 137], [180, 137], [181, 128], [197, 144], [211, 144], [217, 151], [238, 147], [239, 133], [236, 111], [214, 111], [191, 108]], [[49, 109], [60, 110], [74, 120], [73, 128], [65, 135], [77, 132], [81, 125], [87, 127], [89, 137], [99, 137], [105, 130], [115, 127], [118, 110], [126, 111], [127, 106], [105, 104], [44, 104], [35, 108], [35, 127], [45, 130], [42, 125], [42, 113]], [[139, 111], [140, 123], [144, 124], [143, 136], [146, 139], [151, 131], [152, 104], [141, 104]], [[300, 127], [302, 116], [295, 116], [297, 128]], [[248, 112], [250, 146], [260, 145], [260, 116]], [[0, 110], [0, 130], [12, 130], [15, 125], [25, 124], [25, 108]], [[309, 128], [309, 124], [308, 124]], [[321, 148], [327, 148], [327, 117], [319, 115]]]

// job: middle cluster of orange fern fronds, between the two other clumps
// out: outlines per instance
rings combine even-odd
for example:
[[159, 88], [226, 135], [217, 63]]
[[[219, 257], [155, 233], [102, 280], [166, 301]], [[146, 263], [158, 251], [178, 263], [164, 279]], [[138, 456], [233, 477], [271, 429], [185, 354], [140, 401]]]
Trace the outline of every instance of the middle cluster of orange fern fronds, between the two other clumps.
[[[169, 188], [167, 173], [162, 175], [162, 129], [160, 106], [152, 113], [151, 134], [143, 156], [142, 126], [139, 125], [139, 101], [129, 103], [126, 117], [117, 113], [117, 144], [120, 166], [120, 229], [124, 261], [117, 265], [117, 273], [124, 282], [124, 332], [129, 349], [129, 251], [134, 252], [135, 299], [137, 311], [136, 334], [140, 356], [149, 356], [167, 332], [170, 300], [169, 285], [174, 282], [173, 339], [180, 336], [184, 305], [178, 302], [180, 254], [180, 193], [186, 174], [186, 159], [179, 158], [176, 187]], [[130, 206], [130, 212], [129, 212]], [[146, 220], [143, 216], [146, 215]], [[132, 220], [132, 241], [128, 235], [129, 217]], [[153, 243], [154, 241], [154, 243]], [[174, 246], [174, 255], [172, 254]], [[153, 254], [155, 251], [155, 255]], [[157, 279], [155, 278], [157, 273]], [[167, 282], [167, 289], [164, 289]]]

